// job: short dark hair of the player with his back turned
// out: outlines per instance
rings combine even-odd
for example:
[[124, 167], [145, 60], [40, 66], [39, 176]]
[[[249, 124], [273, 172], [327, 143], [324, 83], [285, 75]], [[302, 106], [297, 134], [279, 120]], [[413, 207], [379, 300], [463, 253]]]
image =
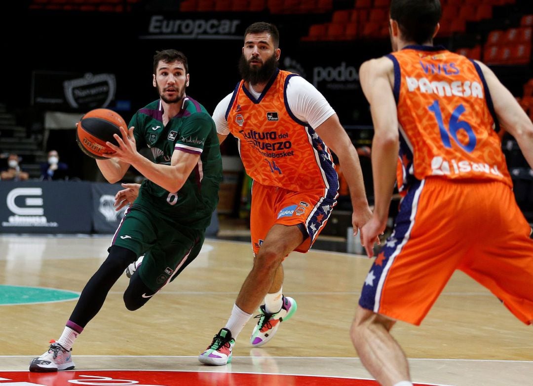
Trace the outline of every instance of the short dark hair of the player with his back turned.
[[433, 40], [442, 9], [440, 0], [392, 0], [390, 14], [405, 40], [424, 44]]

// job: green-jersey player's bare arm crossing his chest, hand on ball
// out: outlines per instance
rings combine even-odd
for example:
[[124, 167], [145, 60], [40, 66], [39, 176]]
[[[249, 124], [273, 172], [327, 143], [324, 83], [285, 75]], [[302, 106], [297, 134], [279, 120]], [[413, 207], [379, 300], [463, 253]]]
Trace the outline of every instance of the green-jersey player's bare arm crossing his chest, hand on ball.
[[118, 146], [115, 146], [110, 142], [106, 143], [111, 149], [115, 150], [115, 153], [110, 157], [132, 165], [144, 177], [169, 192], [177, 192], [181, 189], [200, 158], [199, 154], [174, 150], [172, 153], [171, 165], [154, 163], [137, 151], [135, 138], [133, 136], [133, 128], [131, 128], [129, 132], [126, 132], [126, 130], [121, 127], [120, 134], [122, 134], [122, 137], [117, 134], [114, 135], [118, 142]]

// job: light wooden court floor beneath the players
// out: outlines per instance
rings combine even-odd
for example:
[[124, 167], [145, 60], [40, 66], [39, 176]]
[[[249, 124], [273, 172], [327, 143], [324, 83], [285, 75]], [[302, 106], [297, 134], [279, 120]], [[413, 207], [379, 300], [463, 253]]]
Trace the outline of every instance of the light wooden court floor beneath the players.
[[[110, 236], [0, 236], [0, 284], [79, 292], [107, 256], [109, 242]], [[348, 331], [371, 263], [320, 250], [290, 254], [284, 293], [297, 300], [297, 313], [262, 348], [249, 346], [252, 319], [237, 339], [233, 363], [209, 367], [196, 356], [227, 321], [252, 253], [246, 242], [208, 239], [198, 258], [138, 311], [125, 309], [127, 278], [120, 278], [76, 341], [76, 369], [369, 378]], [[59, 338], [74, 305], [75, 300], [0, 305], [0, 371], [26, 371], [31, 357]], [[392, 332], [416, 382], [533, 385], [533, 328], [461, 272], [421, 326], [399, 322]]]

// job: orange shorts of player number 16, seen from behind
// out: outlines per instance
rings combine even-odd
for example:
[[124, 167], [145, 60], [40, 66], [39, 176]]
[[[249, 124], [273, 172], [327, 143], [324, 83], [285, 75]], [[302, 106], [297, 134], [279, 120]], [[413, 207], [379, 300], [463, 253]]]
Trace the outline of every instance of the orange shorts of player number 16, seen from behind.
[[533, 322], [533, 240], [501, 182], [427, 178], [409, 188], [359, 305], [419, 325], [460, 269], [526, 324]]

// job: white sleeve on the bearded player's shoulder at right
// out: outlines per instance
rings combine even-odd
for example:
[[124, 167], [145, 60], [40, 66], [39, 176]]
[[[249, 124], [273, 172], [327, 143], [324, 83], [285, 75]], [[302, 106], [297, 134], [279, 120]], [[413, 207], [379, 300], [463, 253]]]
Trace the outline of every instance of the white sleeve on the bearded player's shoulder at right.
[[296, 118], [315, 129], [335, 114], [324, 95], [301, 76], [289, 79], [287, 104]]

